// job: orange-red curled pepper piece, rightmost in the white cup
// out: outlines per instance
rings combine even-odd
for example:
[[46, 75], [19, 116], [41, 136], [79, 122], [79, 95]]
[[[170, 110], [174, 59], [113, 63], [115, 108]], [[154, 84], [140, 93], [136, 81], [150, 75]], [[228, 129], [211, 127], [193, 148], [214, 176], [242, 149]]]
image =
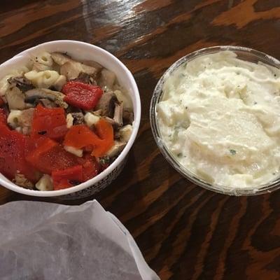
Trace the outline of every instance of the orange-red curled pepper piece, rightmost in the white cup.
[[86, 125], [73, 125], [65, 135], [64, 145], [79, 149], [92, 146], [92, 155], [102, 157], [113, 146], [113, 127], [104, 119], [95, 127], [98, 136]]

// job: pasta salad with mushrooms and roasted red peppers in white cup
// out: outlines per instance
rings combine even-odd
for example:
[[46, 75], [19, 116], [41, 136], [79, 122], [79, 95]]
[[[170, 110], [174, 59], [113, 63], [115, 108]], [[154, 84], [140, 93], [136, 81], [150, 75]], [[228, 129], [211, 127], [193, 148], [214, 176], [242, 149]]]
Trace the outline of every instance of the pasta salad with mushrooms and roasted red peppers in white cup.
[[0, 172], [23, 188], [76, 186], [118, 157], [133, 120], [116, 73], [43, 52], [0, 80]]

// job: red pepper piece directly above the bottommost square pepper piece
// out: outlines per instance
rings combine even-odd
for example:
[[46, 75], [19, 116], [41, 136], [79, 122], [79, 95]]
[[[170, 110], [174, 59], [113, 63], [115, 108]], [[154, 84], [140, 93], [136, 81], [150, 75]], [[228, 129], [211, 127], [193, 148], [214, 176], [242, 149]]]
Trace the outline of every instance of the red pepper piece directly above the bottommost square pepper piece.
[[76, 155], [68, 153], [60, 144], [48, 138], [40, 141], [33, 151], [30, 150], [27, 152], [27, 162], [46, 174], [77, 165]]

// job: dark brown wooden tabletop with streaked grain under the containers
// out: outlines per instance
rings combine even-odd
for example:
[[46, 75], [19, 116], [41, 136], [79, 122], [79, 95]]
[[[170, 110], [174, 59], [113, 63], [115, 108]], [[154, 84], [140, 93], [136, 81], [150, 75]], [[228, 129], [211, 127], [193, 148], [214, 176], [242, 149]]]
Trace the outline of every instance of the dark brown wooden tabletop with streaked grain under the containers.
[[[86, 200], [120, 218], [161, 279], [280, 279], [280, 191], [229, 197], [195, 186], [164, 160], [148, 117], [158, 78], [193, 50], [244, 45], [280, 59], [279, 0], [1, 1], [0, 36], [0, 62], [73, 39], [109, 50], [134, 73], [137, 141], [118, 179]], [[0, 187], [0, 203], [13, 200], [35, 199]]]

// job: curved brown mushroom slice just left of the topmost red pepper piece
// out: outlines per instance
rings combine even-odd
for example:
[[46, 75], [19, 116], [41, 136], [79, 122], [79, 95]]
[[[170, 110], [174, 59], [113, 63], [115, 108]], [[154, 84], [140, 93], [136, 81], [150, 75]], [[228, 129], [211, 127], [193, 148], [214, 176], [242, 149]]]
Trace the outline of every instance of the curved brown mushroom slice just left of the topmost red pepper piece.
[[50, 99], [58, 106], [66, 109], [68, 104], [63, 101], [64, 94], [62, 92], [56, 92], [54, 90], [48, 90], [46, 88], [35, 88], [34, 90], [28, 90], [25, 92], [25, 102], [34, 103], [37, 99]]

